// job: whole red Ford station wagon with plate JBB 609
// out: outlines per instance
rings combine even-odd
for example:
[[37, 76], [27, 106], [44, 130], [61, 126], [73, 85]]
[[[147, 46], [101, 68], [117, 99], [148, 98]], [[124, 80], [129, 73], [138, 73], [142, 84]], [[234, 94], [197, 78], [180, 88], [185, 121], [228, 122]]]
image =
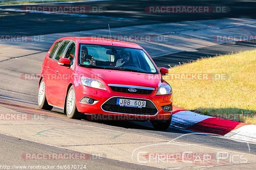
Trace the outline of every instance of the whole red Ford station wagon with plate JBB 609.
[[61, 108], [68, 118], [150, 120], [156, 129], [167, 129], [172, 119], [172, 88], [162, 78], [167, 74], [137, 44], [65, 37], [44, 58], [38, 106]]

